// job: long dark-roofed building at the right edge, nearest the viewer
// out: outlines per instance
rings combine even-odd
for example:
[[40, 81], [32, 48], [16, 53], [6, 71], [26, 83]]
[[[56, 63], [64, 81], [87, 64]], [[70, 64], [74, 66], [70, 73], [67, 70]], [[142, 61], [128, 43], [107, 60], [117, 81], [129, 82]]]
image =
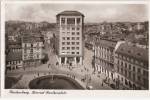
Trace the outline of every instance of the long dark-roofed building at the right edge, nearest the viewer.
[[122, 43], [115, 51], [117, 87], [148, 89], [148, 49]]

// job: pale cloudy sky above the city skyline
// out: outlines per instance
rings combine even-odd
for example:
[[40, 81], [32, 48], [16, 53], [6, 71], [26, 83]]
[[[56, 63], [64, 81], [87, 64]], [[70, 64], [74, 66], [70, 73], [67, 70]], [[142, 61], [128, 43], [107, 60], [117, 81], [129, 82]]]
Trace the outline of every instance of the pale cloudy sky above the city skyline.
[[147, 21], [144, 4], [6, 4], [6, 20], [56, 22], [56, 14], [77, 10], [85, 22]]

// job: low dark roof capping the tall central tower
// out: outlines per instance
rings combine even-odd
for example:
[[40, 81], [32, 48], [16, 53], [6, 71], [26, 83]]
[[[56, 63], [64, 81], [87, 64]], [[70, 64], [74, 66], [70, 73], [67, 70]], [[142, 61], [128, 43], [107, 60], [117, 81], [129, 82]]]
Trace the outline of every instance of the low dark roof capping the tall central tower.
[[65, 15], [65, 16], [71, 16], [72, 15], [72, 16], [83, 16], [84, 17], [84, 15], [78, 11], [69, 11], [69, 10], [60, 12], [56, 16], [60, 16], [60, 15]]

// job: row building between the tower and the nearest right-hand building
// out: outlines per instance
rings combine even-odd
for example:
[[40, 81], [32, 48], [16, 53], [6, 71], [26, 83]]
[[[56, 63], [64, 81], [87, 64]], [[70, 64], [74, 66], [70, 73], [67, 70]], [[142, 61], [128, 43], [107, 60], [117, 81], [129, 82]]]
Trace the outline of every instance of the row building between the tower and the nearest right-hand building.
[[99, 40], [95, 44], [95, 71], [104, 73], [106, 77], [114, 79], [114, 50], [117, 42]]

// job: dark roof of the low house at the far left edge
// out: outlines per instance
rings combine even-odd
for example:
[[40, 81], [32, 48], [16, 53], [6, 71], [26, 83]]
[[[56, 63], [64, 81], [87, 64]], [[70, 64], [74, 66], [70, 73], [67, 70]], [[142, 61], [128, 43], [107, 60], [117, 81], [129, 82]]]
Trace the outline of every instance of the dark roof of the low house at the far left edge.
[[6, 61], [22, 60], [22, 51], [13, 52], [12, 50], [6, 55]]

